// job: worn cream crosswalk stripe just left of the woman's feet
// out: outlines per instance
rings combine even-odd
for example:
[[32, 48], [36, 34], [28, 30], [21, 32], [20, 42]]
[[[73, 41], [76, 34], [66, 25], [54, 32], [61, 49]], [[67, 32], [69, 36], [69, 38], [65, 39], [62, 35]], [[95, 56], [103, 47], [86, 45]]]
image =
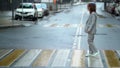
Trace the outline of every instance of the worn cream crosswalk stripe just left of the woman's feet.
[[71, 66], [85, 68], [85, 51], [73, 51]]

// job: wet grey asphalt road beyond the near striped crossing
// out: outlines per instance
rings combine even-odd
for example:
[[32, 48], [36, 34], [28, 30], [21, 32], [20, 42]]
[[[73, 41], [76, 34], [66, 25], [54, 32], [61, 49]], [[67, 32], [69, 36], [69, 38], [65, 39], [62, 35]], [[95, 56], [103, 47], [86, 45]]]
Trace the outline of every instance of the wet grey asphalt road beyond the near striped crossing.
[[[102, 11], [97, 4], [98, 19], [96, 47], [119, 49], [120, 21]], [[86, 5], [78, 5], [63, 12], [44, 17], [36, 25], [0, 30], [0, 48], [87, 49], [84, 24], [89, 16]]]

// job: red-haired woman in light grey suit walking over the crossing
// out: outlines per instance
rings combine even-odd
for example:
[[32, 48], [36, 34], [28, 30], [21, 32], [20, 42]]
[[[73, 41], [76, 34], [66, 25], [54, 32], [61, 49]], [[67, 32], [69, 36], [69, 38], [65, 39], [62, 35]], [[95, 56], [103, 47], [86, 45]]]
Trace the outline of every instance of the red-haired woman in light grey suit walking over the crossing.
[[96, 4], [89, 3], [87, 9], [90, 13], [90, 16], [85, 26], [85, 32], [88, 33], [88, 44], [89, 44], [89, 53], [86, 55], [86, 57], [89, 57], [98, 54], [98, 51], [93, 43], [94, 35], [96, 34], [96, 22], [97, 22]]

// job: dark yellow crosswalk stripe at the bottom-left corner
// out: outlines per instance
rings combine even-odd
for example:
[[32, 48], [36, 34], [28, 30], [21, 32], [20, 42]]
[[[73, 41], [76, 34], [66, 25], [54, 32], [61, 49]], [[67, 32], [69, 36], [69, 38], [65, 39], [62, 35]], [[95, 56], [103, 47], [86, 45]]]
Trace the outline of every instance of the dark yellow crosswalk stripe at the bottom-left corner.
[[14, 61], [16, 61], [19, 57], [21, 57], [25, 53], [23, 49], [14, 50], [11, 54], [6, 56], [4, 59], [0, 61], [0, 66], [9, 67]]

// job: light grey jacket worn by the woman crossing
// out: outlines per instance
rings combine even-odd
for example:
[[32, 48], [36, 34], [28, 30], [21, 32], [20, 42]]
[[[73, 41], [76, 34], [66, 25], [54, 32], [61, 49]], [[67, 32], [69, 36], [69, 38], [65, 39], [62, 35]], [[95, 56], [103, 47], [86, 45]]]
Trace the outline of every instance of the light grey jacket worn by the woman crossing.
[[92, 12], [86, 22], [85, 32], [89, 34], [95, 34], [96, 22], [97, 22], [97, 14], [95, 12]]

